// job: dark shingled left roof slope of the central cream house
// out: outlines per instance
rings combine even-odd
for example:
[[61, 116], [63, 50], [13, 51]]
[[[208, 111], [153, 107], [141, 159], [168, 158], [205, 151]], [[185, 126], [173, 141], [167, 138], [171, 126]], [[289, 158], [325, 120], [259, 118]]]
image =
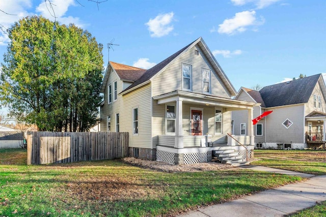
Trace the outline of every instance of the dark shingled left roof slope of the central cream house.
[[142, 77], [140, 77], [137, 81], [135, 81], [133, 84], [131, 84], [128, 88], [126, 88], [122, 92], [127, 91], [128, 89], [131, 89], [132, 87], [135, 87], [135, 86], [137, 86], [137, 85], [139, 85], [141, 83], [144, 83], [144, 82], [148, 81], [149, 79], [151, 79], [154, 75], [156, 75], [156, 73], [158, 73], [159, 71], [161, 71], [161, 69], [166, 67], [173, 59], [175, 59], [180, 53], [182, 53], [184, 50], [186, 50], [189, 46], [191, 46], [197, 40], [198, 39], [196, 39], [192, 43], [188, 44], [187, 46], [185, 46], [181, 50], [177, 51], [176, 53], [172, 54], [171, 56], [169, 56], [165, 60], [161, 61], [159, 64], [155, 65], [151, 69], [147, 70], [143, 74]]

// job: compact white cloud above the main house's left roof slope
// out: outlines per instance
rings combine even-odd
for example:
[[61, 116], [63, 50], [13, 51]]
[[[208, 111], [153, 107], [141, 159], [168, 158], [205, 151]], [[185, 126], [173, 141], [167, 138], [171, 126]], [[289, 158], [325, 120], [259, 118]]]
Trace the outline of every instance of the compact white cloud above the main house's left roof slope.
[[148, 25], [148, 30], [152, 33], [151, 37], [162, 37], [168, 35], [173, 30], [173, 25], [170, 23], [173, 21], [174, 13], [160, 14], [154, 19], [149, 19], [145, 25]]

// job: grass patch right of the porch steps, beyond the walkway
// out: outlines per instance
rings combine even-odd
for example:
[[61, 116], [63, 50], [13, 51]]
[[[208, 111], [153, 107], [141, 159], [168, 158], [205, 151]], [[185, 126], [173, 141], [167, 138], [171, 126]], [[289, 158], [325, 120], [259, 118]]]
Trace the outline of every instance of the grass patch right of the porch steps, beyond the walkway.
[[314, 175], [326, 174], [326, 151], [255, 150], [252, 165], [273, 167]]

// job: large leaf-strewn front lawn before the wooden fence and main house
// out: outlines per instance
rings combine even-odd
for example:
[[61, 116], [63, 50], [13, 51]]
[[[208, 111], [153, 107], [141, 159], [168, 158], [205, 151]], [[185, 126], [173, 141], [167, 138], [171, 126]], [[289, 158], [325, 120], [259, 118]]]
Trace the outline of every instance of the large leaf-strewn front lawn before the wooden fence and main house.
[[0, 150], [0, 216], [164, 216], [302, 180], [241, 169], [166, 173], [120, 161], [26, 166], [25, 158]]

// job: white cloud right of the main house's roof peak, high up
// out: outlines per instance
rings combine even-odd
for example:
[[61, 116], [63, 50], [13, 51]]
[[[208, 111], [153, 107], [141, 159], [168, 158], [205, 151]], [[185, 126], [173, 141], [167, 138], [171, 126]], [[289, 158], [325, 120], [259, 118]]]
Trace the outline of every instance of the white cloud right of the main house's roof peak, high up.
[[218, 32], [220, 34], [234, 35], [247, 30], [248, 26], [257, 26], [264, 23], [264, 18], [261, 20], [256, 19], [255, 11], [243, 11], [236, 13], [231, 19], [225, 19], [222, 24], [219, 25], [219, 29], [216, 31], [215, 28], [211, 32]]

